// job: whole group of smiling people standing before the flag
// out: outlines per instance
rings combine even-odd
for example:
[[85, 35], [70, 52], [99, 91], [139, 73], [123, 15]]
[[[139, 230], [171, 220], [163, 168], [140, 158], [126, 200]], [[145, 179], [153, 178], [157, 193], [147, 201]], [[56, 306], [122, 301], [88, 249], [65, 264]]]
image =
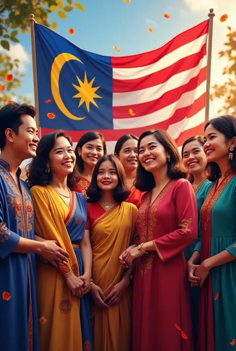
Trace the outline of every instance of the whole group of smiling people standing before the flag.
[[0, 110], [0, 350], [232, 350], [236, 117], [181, 157], [161, 129], [73, 150], [35, 115]]

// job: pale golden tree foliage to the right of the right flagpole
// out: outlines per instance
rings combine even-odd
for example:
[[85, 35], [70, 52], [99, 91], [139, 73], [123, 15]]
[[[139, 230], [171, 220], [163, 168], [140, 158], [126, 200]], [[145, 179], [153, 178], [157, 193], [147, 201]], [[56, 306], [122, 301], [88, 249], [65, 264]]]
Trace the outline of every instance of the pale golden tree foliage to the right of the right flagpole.
[[227, 42], [225, 50], [219, 52], [219, 57], [227, 57], [228, 65], [223, 70], [223, 75], [228, 76], [228, 80], [223, 85], [215, 84], [213, 86], [214, 93], [211, 98], [224, 97], [224, 105], [218, 113], [236, 114], [236, 31], [231, 27], [227, 27], [229, 33], [227, 34]]

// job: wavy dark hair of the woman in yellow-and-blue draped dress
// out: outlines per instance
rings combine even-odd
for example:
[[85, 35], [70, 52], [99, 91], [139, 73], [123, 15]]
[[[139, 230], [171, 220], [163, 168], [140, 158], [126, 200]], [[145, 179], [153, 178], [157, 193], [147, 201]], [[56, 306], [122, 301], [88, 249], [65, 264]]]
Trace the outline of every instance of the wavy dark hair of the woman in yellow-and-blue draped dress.
[[[47, 162], [49, 159], [49, 152], [55, 144], [56, 138], [59, 136], [64, 136], [71, 146], [73, 145], [72, 139], [68, 136], [64, 130], [57, 130], [52, 133], [44, 135], [39, 143], [36, 150], [36, 157], [34, 157], [31, 163], [27, 166], [27, 180], [26, 183], [29, 187], [34, 185], [48, 185], [52, 180], [52, 173], [46, 172]], [[80, 175], [75, 165], [74, 170], [71, 174], [67, 176], [67, 186], [70, 190], [75, 190], [76, 186], [80, 180]]]

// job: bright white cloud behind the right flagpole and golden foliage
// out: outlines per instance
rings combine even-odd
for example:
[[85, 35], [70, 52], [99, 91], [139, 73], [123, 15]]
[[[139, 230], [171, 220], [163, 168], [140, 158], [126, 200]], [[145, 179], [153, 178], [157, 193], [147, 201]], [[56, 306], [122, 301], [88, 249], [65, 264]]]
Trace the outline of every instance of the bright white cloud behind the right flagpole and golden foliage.
[[[223, 76], [223, 69], [228, 64], [226, 58], [219, 58], [219, 51], [225, 50], [224, 43], [227, 41], [227, 26], [232, 29], [236, 28], [236, 2], [235, 0], [184, 0], [187, 7], [194, 13], [205, 13], [206, 19], [210, 7], [214, 8], [214, 26], [213, 26], [213, 45], [212, 45], [212, 70], [211, 70], [211, 86], [214, 84], [224, 84], [227, 81], [227, 75]], [[222, 14], [228, 13], [230, 16], [226, 22], [219, 21]], [[222, 108], [224, 99], [216, 99], [210, 105], [210, 116], [216, 117], [218, 110]], [[212, 106], [213, 105], [213, 106]]]

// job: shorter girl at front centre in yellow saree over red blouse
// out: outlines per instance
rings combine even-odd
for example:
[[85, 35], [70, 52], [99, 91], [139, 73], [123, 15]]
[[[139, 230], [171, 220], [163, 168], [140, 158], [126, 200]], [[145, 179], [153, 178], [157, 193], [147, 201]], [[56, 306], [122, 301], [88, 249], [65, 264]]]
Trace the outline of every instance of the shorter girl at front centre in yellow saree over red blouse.
[[132, 268], [123, 271], [119, 255], [135, 238], [137, 208], [124, 202], [124, 170], [117, 157], [103, 156], [94, 169], [88, 220], [93, 251], [91, 279], [95, 351], [130, 351]]

